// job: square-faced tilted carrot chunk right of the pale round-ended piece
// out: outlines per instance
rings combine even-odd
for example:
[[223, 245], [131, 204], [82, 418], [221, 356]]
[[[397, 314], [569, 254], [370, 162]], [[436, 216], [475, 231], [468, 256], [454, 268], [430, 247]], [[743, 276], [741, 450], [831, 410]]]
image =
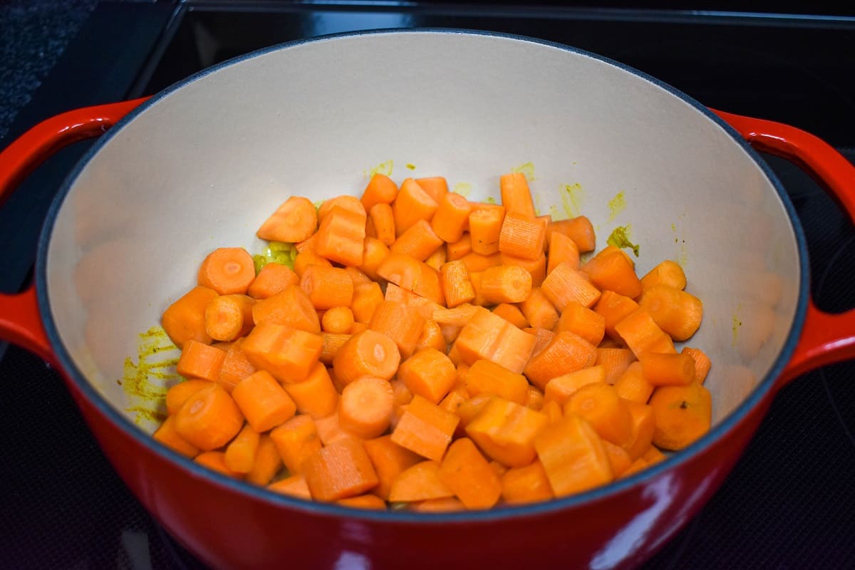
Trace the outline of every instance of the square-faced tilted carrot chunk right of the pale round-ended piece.
[[439, 461], [457, 427], [455, 414], [414, 395], [392, 432], [392, 441], [422, 457]]

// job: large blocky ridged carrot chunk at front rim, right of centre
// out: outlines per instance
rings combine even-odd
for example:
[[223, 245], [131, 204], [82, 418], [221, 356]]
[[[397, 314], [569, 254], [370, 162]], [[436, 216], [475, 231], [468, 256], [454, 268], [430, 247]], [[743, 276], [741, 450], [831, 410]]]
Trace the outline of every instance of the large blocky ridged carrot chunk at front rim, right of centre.
[[615, 478], [603, 442], [579, 414], [567, 414], [534, 440], [556, 497], [610, 483]]

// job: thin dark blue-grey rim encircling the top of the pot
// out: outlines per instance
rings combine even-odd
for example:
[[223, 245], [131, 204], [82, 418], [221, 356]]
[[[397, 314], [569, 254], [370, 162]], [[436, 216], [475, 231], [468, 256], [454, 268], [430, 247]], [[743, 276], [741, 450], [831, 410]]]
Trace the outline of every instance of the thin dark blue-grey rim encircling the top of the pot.
[[[56, 220], [57, 214], [59, 214], [60, 209], [62, 209], [62, 204], [65, 201], [65, 197], [68, 195], [68, 191], [70, 191], [71, 187], [74, 185], [75, 180], [78, 179], [80, 173], [88, 165], [92, 157], [95, 156], [99, 150], [101, 150], [103, 145], [106, 144], [110, 140], [110, 138], [114, 137], [117, 132], [120, 132], [121, 129], [129, 122], [132, 122], [133, 119], [137, 117], [137, 115], [143, 113], [145, 110], [149, 109], [151, 106], [159, 102], [162, 98], [167, 97], [174, 91], [177, 91], [185, 85], [188, 85], [196, 81], [197, 79], [201, 79], [209, 75], [210, 73], [215, 73], [221, 68], [226, 68], [257, 56], [263, 56], [272, 53], [274, 51], [287, 50], [289, 48], [303, 44], [314, 44], [318, 42], [335, 40], [338, 38], [351, 38], [356, 36], [374, 35], [397, 35], [402, 33], [451, 33], [460, 35], [506, 38], [516, 41], [522, 41], [525, 43], [541, 44], [552, 48], [557, 48], [559, 50], [569, 51], [570, 53], [576, 55], [587, 56], [598, 61], [610, 64], [617, 68], [621, 68], [622, 70], [627, 71], [628, 73], [634, 74], [640, 79], [645, 79], [646, 81], [649, 81], [652, 84], [663, 88], [665, 91], [669, 91], [669, 93], [675, 95], [676, 97], [680, 97], [684, 102], [691, 105], [694, 109], [698, 110], [699, 113], [705, 115], [709, 120], [712, 120], [718, 126], [721, 126], [722, 129], [727, 132], [732, 138], [734, 138], [737, 144], [740, 144], [742, 149], [745, 150], [749, 154], [749, 156], [752, 157], [754, 162], [758, 164], [758, 167], [761, 168], [766, 177], [772, 183], [773, 187], [775, 188], [775, 191], [778, 193], [778, 197], [781, 199], [781, 203], [784, 205], [784, 208], [787, 211], [787, 216], [791, 222], [793, 233], [795, 234], [796, 244], [799, 251], [798, 299], [795, 314], [793, 315], [792, 326], [790, 327], [789, 332], [787, 332], [786, 341], [781, 347], [781, 351], [778, 353], [778, 356], [775, 357], [775, 361], [769, 368], [769, 372], [765, 375], [764, 379], [758, 382], [758, 385], [754, 388], [754, 390], [752, 390], [751, 394], [749, 394], [748, 397], [746, 397], [736, 408], [734, 408], [734, 410], [731, 411], [728, 416], [722, 419], [716, 426], [713, 426], [710, 432], [707, 432], [703, 437], [699, 438], [693, 444], [689, 445], [686, 449], [677, 452], [675, 455], [669, 456], [664, 461], [659, 461], [657, 464], [641, 470], [639, 473], [634, 473], [633, 475], [625, 479], [617, 479], [609, 485], [602, 485], [590, 491], [584, 491], [575, 495], [570, 495], [569, 497], [556, 498], [545, 502], [536, 502], [526, 505], [503, 505], [499, 508], [492, 508], [489, 510], [474, 510], [455, 513], [373, 511], [369, 509], [339, 506], [334, 503], [305, 501], [296, 497], [288, 497], [286, 495], [276, 493], [275, 491], [269, 491], [268, 489], [262, 486], [245, 483], [244, 481], [230, 478], [227, 475], [217, 473], [207, 467], [203, 467], [202, 465], [199, 465], [198, 463], [192, 461], [186, 456], [180, 455], [178, 452], [171, 450], [168, 447], [156, 442], [156, 440], [152, 438], [150, 434], [143, 432], [139, 428], [139, 426], [136, 426], [133, 423], [132, 420], [128, 419], [127, 416], [121, 414], [121, 412], [114, 408], [113, 405], [109, 403], [106, 398], [103, 397], [97, 390], [95, 390], [93, 385], [91, 385], [91, 383], [87, 379], [85, 379], [85, 375], [80, 371], [80, 368], [78, 368], [74, 364], [74, 361], [69, 355], [68, 350], [66, 350], [66, 347], [62, 344], [62, 339], [59, 336], [59, 332], [57, 330], [53, 314], [51, 314], [50, 312], [50, 299], [47, 293], [48, 290], [46, 274], [47, 251], [50, 244], [50, 237], [53, 232], [54, 222]], [[38, 250], [36, 255], [35, 268], [35, 283], [38, 297], [38, 309], [41, 314], [44, 330], [47, 333], [48, 340], [50, 341], [50, 346], [55, 351], [56, 360], [61, 365], [65, 377], [69, 381], [74, 382], [74, 384], [86, 397], [86, 399], [90, 403], [92, 403], [93, 406], [97, 408], [97, 411], [104, 417], [106, 417], [109, 422], [113, 424], [113, 426], [121, 429], [124, 432], [127, 432], [140, 445], [144, 446], [145, 448], [148, 448], [150, 452], [154, 453], [155, 455], [158, 455], [160, 459], [177, 464], [178, 466], [183, 468], [189, 476], [200, 479], [207, 479], [209, 480], [209, 482], [214, 483], [215, 485], [219, 485], [225, 488], [227, 491], [232, 491], [234, 493], [244, 496], [247, 500], [251, 499], [255, 501], [266, 502], [276, 507], [291, 508], [303, 512], [304, 514], [310, 514], [314, 516], [340, 517], [349, 519], [371, 520], [378, 523], [398, 524], [403, 522], [422, 524], [437, 524], [445, 522], [463, 523], [481, 521], [498, 522], [544, 514], [556, 514], [558, 511], [569, 510], [585, 503], [603, 501], [608, 497], [620, 495], [634, 486], [648, 483], [652, 479], [656, 479], [663, 473], [670, 471], [673, 468], [680, 467], [688, 461], [693, 461], [696, 455], [701, 454], [704, 450], [711, 447], [712, 444], [715, 444], [716, 441], [721, 439], [727, 432], [730, 432], [737, 425], [739, 425], [741, 421], [745, 420], [746, 417], [751, 414], [752, 411], [757, 408], [767, 397], [770, 397], [772, 393], [772, 387], [775, 385], [775, 379], [778, 378], [784, 367], [787, 365], [787, 362], [793, 355], [793, 350], [795, 350], [796, 344], [798, 344], [799, 334], [805, 324], [805, 314], [807, 311], [808, 298], [810, 294], [810, 265], [808, 263], [808, 250], [805, 239], [805, 232], [801, 226], [799, 217], [793, 207], [793, 203], [787, 196], [787, 192], [784, 190], [783, 185], [781, 185], [780, 180], [777, 179], [775, 173], [772, 172], [771, 168], [764, 161], [762, 156], [760, 156], [756, 150], [753, 150], [750, 144], [748, 144], [746, 140], [742, 138], [732, 126], [729, 126], [728, 123], [726, 123], [720, 117], [715, 115], [710, 109], [693, 99], [693, 97], [689, 97], [687, 94], [675, 89], [671, 85], [664, 83], [660, 79], [656, 79], [655, 77], [652, 77], [647, 73], [641, 72], [638, 69], [632, 68], [621, 62], [616, 62], [615, 60], [612, 60], [608, 57], [599, 56], [598, 54], [587, 50], [581, 50], [568, 44], [561, 44], [521, 34], [489, 32], [468, 28], [453, 27], [385, 28], [374, 30], [360, 30], [356, 32], [339, 32], [316, 36], [314, 38], [301, 38], [290, 42], [268, 46], [266, 48], [255, 50], [242, 56], [233, 57], [232, 59], [220, 62], [218, 64], [215, 64], [214, 66], [198, 71], [197, 73], [193, 73], [185, 79], [181, 79], [180, 81], [174, 83], [173, 85], [170, 85], [166, 89], [156, 93], [147, 101], [140, 104], [139, 107], [133, 109], [133, 111], [131, 111], [123, 119], [117, 122], [113, 128], [111, 128], [108, 132], [98, 138], [95, 144], [93, 144], [91, 148], [86, 152], [85, 156], [80, 159], [80, 162], [75, 165], [74, 170], [69, 173], [68, 177], [63, 181], [61, 188], [57, 192], [56, 197], [50, 205], [47, 218], [45, 219], [44, 226], [42, 227], [42, 231], [38, 238]]]

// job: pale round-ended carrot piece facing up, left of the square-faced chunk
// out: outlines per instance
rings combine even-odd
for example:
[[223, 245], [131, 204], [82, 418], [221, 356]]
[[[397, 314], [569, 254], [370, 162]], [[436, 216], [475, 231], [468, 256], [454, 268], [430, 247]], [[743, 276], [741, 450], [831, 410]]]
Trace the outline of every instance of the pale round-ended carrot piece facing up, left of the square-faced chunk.
[[356, 379], [341, 392], [339, 425], [357, 438], [379, 437], [389, 427], [394, 403], [388, 380]]

